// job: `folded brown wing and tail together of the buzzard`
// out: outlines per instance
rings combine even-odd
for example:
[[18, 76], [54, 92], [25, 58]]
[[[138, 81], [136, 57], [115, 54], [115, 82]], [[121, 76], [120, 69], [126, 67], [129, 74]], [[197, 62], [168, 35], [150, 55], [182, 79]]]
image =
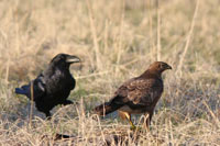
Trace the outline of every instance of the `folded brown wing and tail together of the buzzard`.
[[[124, 82], [109, 102], [95, 108], [99, 115], [109, 114], [123, 105], [131, 109], [153, 108], [163, 92], [163, 82], [156, 78], [133, 78]], [[153, 106], [152, 106], [153, 105]]]

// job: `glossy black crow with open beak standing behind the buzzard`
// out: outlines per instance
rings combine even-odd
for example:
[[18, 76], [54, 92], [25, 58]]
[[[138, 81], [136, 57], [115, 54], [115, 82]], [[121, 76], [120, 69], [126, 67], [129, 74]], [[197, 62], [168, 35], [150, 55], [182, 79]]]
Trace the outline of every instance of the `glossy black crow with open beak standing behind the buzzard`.
[[[67, 54], [56, 55], [48, 67], [32, 80], [33, 101], [38, 111], [51, 117], [51, 110], [57, 104], [70, 104], [67, 100], [70, 90], [75, 88], [76, 81], [70, 75], [69, 66], [79, 63], [77, 56]], [[15, 93], [25, 94], [31, 100], [31, 82], [21, 88], [15, 88]]]

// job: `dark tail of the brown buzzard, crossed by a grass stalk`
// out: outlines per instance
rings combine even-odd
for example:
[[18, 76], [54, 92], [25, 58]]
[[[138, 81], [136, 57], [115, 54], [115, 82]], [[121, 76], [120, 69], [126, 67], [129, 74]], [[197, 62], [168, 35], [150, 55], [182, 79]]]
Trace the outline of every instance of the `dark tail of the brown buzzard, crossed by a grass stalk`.
[[101, 105], [98, 105], [97, 108], [95, 108], [95, 113], [101, 116], [105, 116], [111, 112], [117, 111], [118, 109], [120, 109], [122, 106], [122, 104], [117, 104], [114, 102], [106, 102]]

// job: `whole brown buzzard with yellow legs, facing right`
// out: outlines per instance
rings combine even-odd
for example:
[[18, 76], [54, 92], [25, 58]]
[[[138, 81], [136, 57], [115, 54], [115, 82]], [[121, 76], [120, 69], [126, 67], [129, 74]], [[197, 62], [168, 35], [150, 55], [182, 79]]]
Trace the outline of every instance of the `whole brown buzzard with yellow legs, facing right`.
[[127, 119], [133, 130], [135, 126], [131, 114], [148, 114], [145, 120], [145, 127], [148, 128], [154, 108], [164, 90], [162, 72], [166, 69], [172, 67], [163, 61], [153, 63], [141, 76], [125, 81], [109, 102], [95, 108], [95, 113], [105, 116], [118, 110], [119, 115]]

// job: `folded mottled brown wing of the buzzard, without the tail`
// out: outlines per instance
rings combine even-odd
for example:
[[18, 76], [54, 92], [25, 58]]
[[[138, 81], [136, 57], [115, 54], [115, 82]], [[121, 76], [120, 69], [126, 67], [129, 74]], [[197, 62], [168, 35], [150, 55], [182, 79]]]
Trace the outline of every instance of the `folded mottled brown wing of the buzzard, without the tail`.
[[163, 82], [160, 79], [134, 78], [122, 85], [114, 97], [120, 97], [116, 102], [132, 102], [140, 105], [152, 105], [163, 92]]

